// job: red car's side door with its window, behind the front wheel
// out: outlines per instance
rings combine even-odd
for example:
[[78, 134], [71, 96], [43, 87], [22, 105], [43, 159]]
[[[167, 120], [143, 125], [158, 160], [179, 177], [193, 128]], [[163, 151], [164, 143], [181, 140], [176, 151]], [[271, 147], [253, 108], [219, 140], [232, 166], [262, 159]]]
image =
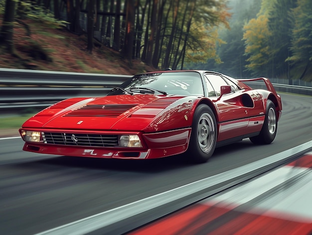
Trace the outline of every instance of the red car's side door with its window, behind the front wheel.
[[[218, 139], [223, 141], [235, 137], [243, 136], [247, 132], [249, 118], [247, 115], [247, 108], [242, 105], [238, 97], [242, 95], [242, 91], [232, 88], [230, 94], [223, 95], [220, 99], [218, 97], [221, 93], [221, 86], [229, 86], [221, 75], [206, 73], [205, 74], [208, 96], [218, 111]], [[232, 87], [232, 86], [231, 86]], [[213, 89], [213, 90], [212, 90]]]

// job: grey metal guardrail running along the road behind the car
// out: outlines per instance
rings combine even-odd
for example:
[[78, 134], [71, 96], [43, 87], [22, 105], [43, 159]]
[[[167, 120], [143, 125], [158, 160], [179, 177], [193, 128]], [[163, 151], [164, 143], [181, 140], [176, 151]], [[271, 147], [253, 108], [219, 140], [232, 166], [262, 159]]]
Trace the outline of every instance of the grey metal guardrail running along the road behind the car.
[[[44, 108], [71, 97], [104, 96], [131, 75], [0, 68], [0, 110]], [[264, 83], [248, 83], [266, 89]], [[312, 95], [312, 87], [273, 84], [277, 91]]]

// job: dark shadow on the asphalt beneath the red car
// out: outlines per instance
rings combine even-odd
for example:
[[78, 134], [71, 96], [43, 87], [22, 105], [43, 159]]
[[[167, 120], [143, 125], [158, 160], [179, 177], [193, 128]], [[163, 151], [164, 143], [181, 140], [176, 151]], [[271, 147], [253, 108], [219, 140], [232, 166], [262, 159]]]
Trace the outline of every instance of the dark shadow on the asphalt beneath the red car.
[[[252, 148], [250, 141], [241, 141], [235, 144], [216, 148], [211, 158], [214, 160], [222, 158], [228, 153], [240, 151], [245, 148]], [[164, 171], [171, 171], [174, 169], [189, 168], [201, 164], [190, 162], [188, 156], [175, 155], [159, 159], [105, 159], [105, 158], [83, 158], [83, 157], [49, 157], [47, 159], [35, 160], [27, 163], [22, 163], [24, 166], [39, 165], [57, 166], [58, 168], [83, 168], [83, 169], [97, 169], [108, 171], [122, 171], [122, 172], [142, 172], [142, 173], [157, 173]], [[209, 164], [209, 161], [203, 164]]]

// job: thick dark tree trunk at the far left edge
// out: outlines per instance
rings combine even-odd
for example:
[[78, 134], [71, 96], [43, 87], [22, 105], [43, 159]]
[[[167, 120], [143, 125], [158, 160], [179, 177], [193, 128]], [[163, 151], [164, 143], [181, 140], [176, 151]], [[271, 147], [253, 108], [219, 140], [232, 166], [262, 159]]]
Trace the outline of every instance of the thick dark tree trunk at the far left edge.
[[5, 10], [0, 31], [0, 45], [4, 45], [5, 49], [13, 53], [13, 21], [15, 14], [15, 0], [5, 1]]

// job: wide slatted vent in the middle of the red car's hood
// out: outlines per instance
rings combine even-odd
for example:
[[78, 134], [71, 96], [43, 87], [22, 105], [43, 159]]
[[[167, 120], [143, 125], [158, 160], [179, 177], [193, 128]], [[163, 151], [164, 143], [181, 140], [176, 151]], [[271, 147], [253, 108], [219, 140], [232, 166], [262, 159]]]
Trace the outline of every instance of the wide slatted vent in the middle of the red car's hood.
[[73, 110], [64, 117], [118, 117], [138, 104], [105, 104], [86, 105]]

